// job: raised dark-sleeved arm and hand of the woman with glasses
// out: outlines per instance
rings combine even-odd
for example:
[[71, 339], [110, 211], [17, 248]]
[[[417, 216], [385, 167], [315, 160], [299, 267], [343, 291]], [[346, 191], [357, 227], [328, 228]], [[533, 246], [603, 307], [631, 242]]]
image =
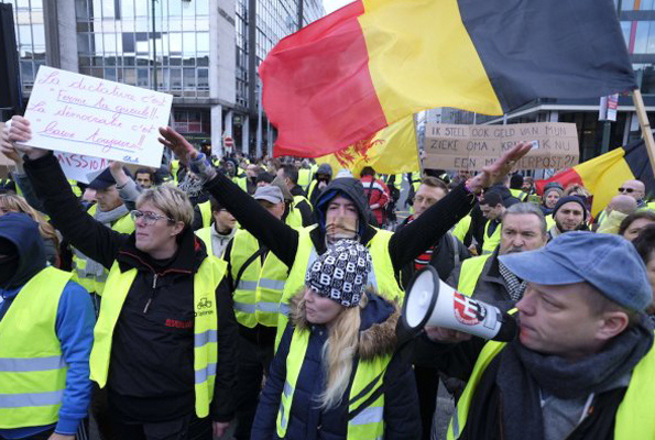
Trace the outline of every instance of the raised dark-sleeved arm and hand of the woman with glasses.
[[[11, 129], [2, 134], [0, 150], [14, 151], [13, 142], [26, 142], [31, 138], [30, 122], [22, 117], [13, 117]], [[111, 267], [120, 244], [128, 235], [106, 228], [83, 209], [52, 152], [23, 146], [21, 152], [26, 157], [24, 168], [34, 193], [55, 228], [85, 255], [107, 268]]]

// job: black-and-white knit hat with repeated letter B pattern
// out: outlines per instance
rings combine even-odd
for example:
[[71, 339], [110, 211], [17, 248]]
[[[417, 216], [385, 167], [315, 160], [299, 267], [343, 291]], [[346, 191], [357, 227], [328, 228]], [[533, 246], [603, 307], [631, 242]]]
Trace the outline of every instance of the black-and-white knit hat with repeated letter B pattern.
[[305, 284], [324, 298], [357, 307], [367, 288], [372, 258], [353, 240], [339, 240], [312, 264]]

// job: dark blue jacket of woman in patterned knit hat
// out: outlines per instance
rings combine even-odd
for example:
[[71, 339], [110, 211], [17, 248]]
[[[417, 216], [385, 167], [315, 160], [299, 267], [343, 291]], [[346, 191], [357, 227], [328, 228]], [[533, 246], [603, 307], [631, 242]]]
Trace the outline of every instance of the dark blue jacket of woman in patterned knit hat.
[[[397, 309], [383, 298], [369, 295], [369, 304], [361, 312], [360, 342], [358, 352], [365, 358], [391, 353], [396, 343], [395, 324], [399, 319]], [[297, 307], [296, 296], [292, 308]], [[337, 440], [346, 439], [348, 429], [348, 395], [346, 389], [341, 405], [321, 410], [317, 396], [325, 388], [325, 372], [321, 366], [321, 349], [328, 331], [325, 326], [313, 326], [306, 322], [293, 324], [307, 326], [312, 334], [303, 366], [296, 384], [292, 404], [286, 439], [297, 440]], [[271, 364], [266, 385], [260, 397], [251, 440], [277, 439], [276, 419], [280, 408], [280, 396], [286, 377], [286, 356], [291, 345], [294, 327], [288, 324]], [[356, 359], [357, 362], [357, 359]], [[353, 369], [353, 373], [354, 373]], [[352, 384], [352, 383], [351, 383]], [[404, 355], [396, 355], [389, 364], [384, 375], [384, 438], [415, 440], [421, 438], [421, 416], [418, 397], [412, 367]]]

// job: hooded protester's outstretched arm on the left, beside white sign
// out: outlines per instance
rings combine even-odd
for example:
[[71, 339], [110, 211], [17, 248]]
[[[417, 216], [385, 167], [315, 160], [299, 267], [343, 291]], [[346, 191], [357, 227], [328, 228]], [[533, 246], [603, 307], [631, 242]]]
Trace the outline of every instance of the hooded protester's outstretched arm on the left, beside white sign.
[[241, 224], [288, 267], [296, 257], [298, 232], [273, 217], [239, 186], [209, 164], [179, 133], [171, 128], [160, 129], [160, 142], [190, 169], [206, 180], [205, 190], [211, 194]]

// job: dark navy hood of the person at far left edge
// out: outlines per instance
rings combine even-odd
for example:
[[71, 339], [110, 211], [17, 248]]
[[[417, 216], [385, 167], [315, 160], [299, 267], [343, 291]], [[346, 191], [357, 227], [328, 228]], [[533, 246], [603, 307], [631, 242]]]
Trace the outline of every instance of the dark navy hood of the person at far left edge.
[[10, 212], [0, 217], [0, 237], [13, 243], [19, 251], [18, 270], [2, 288], [20, 287], [45, 268], [45, 246], [39, 223], [30, 216]]

